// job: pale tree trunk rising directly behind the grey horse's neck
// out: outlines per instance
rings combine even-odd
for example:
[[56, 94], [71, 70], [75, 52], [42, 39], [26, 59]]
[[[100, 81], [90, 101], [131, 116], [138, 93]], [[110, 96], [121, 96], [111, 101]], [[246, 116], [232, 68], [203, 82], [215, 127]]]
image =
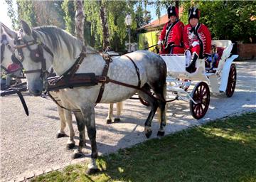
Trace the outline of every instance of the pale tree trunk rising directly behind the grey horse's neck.
[[82, 43], [85, 43], [84, 40], [84, 23], [85, 23], [85, 14], [83, 11], [83, 5], [82, 5], [82, 1], [81, 0], [76, 0], [75, 1], [75, 33], [77, 38], [80, 39], [80, 41], [82, 41]]

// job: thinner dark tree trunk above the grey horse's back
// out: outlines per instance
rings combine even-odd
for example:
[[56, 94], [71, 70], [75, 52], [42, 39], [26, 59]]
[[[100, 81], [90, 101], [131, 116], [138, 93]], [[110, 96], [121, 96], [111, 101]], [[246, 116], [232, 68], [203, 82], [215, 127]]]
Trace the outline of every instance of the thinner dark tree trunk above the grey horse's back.
[[103, 50], [105, 50], [108, 46], [110, 46], [110, 33], [107, 24], [106, 4], [103, 1], [100, 1], [100, 20], [103, 31]]

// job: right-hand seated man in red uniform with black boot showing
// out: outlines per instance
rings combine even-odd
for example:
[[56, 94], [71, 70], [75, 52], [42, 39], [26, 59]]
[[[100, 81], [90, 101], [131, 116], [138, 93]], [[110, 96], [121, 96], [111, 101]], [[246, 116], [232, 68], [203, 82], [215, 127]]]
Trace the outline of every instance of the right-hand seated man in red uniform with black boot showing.
[[196, 69], [196, 60], [198, 58], [207, 58], [210, 56], [210, 31], [208, 28], [199, 23], [200, 11], [193, 7], [188, 10], [188, 25], [184, 27], [183, 41], [185, 46], [185, 54], [191, 55], [191, 61], [186, 68], [189, 73], [193, 73]]

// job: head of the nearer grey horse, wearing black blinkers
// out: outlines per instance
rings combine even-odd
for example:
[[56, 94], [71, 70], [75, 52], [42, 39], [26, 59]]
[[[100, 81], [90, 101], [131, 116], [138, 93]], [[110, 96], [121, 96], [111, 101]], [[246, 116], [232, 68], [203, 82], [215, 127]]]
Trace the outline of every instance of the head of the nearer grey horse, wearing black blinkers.
[[23, 65], [28, 81], [28, 90], [39, 96], [46, 86], [46, 77], [53, 61], [53, 53], [43, 43], [43, 37], [21, 21], [22, 29], [14, 38], [13, 60]]

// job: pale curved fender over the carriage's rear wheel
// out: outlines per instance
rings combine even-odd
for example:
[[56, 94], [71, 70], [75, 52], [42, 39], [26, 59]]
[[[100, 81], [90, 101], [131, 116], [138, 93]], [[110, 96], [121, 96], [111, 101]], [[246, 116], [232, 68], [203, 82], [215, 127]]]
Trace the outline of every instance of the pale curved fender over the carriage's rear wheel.
[[220, 80], [220, 92], [221, 91], [225, 92], [225, 90], [227, 89], [230, 67], [233, 63], [233, 60], [235, 60], [236, 58], [238, 58], [238, 55], [232, 55], [230, 58], [227, 58], [227, 60], [225, 61], [225, 64], [223, 66], [223, 71], [221, 74], [221, 80]]

